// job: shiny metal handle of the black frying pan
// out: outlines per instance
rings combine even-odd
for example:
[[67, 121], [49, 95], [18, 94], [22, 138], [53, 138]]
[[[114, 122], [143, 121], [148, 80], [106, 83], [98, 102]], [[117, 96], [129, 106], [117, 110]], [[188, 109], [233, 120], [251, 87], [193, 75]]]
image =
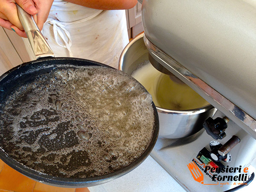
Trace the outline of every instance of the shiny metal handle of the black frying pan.
[[49, 47], [44, 36], [38, 29], [32, 15], [25, 12], [19, 5], [16, 4], [16, 6], [20, 23], [26, 32], [35, 57], [37, 59], [42, 57], [54, 57], [52, 49]]

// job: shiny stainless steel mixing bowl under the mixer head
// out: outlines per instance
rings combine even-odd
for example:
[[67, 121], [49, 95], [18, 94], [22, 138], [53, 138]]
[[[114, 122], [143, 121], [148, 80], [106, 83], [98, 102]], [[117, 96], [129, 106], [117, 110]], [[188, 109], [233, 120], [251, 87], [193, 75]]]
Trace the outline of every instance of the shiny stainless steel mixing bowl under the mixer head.
[[[145, 47], [143, 35], [134, 38], [122, 51], [119, 59], [119, 70], [131, 75], [143, 63], [148, 63], [148, 49]], [[177, 139], [188, 137], [203, 128], [204, 120], [213, 116], [216, 109], [206, 105], [187, 111], [169, 110], [157, 107], [159, 115], [159, 136]]]

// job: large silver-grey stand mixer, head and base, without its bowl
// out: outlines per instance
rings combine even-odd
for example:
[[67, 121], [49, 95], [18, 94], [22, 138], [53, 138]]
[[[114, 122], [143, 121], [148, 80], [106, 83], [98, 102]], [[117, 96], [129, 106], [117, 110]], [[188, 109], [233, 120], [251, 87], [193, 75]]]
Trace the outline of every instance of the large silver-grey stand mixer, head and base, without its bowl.
[[151, 57], [218, 109], [206, 131], [160, 137], [151, 152], [187, 191], [226, 191], [254, 172], [255, 15], [253, 0], [143, 0]]

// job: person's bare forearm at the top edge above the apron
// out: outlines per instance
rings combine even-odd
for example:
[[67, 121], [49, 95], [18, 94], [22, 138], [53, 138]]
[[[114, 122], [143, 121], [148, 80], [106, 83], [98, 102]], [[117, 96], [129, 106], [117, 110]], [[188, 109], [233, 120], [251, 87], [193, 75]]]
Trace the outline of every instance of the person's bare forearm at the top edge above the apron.
[[84, 7], [93, 9], [131, 9], [137, 3], [137, 0], [65, 0]]

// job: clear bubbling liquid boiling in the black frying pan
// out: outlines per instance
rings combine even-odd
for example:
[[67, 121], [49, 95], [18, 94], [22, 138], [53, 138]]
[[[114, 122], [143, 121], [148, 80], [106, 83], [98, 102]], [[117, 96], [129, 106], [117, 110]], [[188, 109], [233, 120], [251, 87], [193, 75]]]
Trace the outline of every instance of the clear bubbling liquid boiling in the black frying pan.
[[52, 176], [121, 169], [143, 153], [153, 133], [151, 96], [131, 77], [105, 67], [57, 69], [7, 101], [0, 108], [1, 148]]

